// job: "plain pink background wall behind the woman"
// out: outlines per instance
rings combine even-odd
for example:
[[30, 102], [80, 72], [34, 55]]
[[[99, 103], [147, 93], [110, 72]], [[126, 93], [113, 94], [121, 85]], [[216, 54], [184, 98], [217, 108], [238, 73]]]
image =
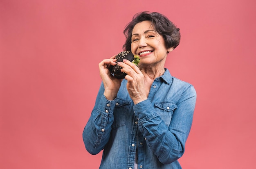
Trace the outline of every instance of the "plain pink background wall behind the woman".
[[[253, 169], [255, 0], [0, 0], [0, 168], [98, 169], [82, 131], [98, 63], [119, 53], [140, 11], [180, 28], [171, 74], [198, 100], [183, 169]], [[117, 159], [118, 161], [118, 159]]]

